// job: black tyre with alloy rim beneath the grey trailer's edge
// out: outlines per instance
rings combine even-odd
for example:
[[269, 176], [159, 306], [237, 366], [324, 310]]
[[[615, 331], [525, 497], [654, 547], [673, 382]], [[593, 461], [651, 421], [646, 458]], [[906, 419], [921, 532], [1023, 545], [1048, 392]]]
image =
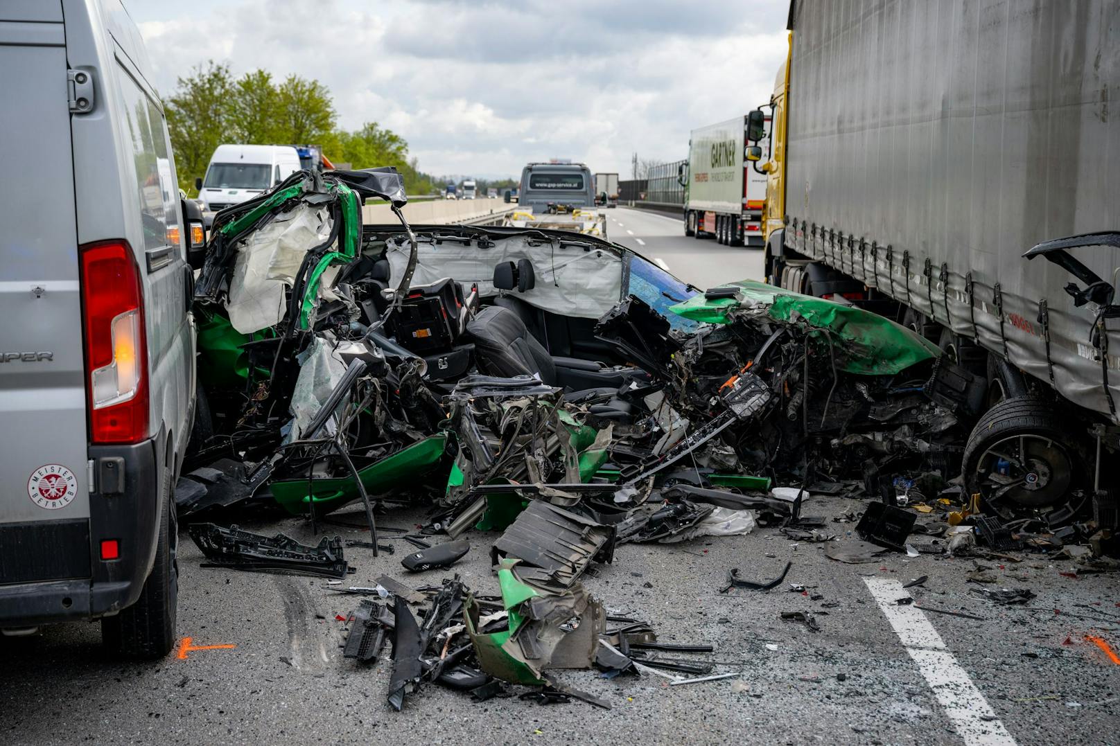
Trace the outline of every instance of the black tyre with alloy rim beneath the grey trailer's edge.
[[1049, 402], [1005, 399], [972, 428], [964, 446], [964, 483], [1005, 519], [1064, 505], [1086, 474], [1075, 442]]

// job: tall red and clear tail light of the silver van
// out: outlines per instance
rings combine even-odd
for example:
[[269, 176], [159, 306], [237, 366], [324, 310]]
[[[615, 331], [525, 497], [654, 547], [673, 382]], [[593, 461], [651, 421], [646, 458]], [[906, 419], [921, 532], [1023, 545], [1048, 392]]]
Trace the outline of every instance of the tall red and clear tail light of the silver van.
[[148, 437], [140, 270], [123, 241], [83, 246], [81, 257], [90, 439], [139, 442]]

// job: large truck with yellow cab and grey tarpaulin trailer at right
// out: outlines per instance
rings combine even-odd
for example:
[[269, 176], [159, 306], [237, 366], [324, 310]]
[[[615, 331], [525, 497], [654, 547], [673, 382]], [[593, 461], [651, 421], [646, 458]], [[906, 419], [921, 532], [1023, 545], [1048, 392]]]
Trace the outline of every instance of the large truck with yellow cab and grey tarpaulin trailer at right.
[[962, 444], [969, 491], [1108, 534], [1120, 7], [1075, 7], [794, 0], [788, 56], [748, 140], [768, 179], [768, 281], [936, 342], [987, 386]]

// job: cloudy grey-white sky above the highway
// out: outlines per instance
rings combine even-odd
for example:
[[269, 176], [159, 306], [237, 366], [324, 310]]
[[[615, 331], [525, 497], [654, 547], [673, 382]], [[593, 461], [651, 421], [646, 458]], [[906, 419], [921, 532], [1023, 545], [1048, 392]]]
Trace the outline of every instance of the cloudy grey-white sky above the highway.
[[[788, 0], [124, 0], [162, 94], [207, 59], [318, 78], [436, 175], [582, 160], [626, 178], [769, 100]], [[314, 9], [314, 10], [312, 10]]]

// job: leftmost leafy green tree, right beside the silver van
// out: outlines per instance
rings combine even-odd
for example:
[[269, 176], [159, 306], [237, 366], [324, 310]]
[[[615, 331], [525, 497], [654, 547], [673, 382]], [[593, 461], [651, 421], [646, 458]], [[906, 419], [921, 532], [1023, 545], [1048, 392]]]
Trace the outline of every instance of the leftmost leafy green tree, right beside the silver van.
[[178, 78], [175, 93], [164, 102], [179, 187], [190, 194], [195, 177], [206, 172], [214, 149], [227, 137], [232, 81], [230, 67], [212, 59]]

